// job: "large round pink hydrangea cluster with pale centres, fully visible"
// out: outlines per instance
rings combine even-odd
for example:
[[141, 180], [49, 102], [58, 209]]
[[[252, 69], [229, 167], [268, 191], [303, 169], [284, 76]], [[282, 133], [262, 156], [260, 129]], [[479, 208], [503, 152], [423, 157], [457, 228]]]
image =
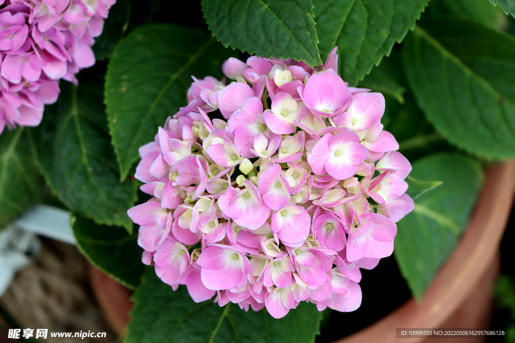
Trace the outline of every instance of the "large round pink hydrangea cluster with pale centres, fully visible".
[[140, 148], [135, 177], [153, 197], [128, 214], [143, 262], [174, 290], [275, 318], [300, 301], [359, 307], [359, 268], [391, 255], [414, 208], [411, 166], [382, 130], [384, 97], [349, 87], [337, 58], [320, 72], [231, 58], [236, 82], [194, 78], [188, 105]]

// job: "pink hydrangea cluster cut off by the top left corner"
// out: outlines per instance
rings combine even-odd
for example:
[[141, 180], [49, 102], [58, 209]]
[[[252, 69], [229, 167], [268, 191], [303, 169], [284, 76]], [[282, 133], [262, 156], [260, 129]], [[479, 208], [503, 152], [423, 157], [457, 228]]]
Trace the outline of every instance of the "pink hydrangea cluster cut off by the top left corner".
[[116, 0], [0, 0], [0, 134], [37, 126], [59, 80], [95, 64], [91, 46]]

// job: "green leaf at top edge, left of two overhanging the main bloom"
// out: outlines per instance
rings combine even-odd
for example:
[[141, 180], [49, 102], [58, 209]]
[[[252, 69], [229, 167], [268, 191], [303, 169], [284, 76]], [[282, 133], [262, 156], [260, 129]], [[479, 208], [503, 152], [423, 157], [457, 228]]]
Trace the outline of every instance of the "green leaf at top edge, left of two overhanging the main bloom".
[[226, 47], [312, 67], [322, 64], [310, 0], [202, 0], [202, 11]]

